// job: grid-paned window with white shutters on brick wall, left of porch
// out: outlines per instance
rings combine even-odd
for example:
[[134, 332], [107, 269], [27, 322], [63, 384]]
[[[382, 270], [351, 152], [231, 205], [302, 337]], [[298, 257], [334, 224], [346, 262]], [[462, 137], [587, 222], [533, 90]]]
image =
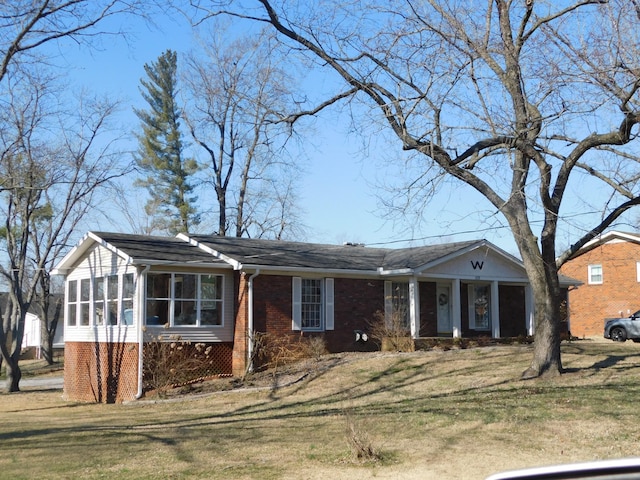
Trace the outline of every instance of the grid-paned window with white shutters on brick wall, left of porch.
[[292, 279], [293, 330], [333, 330], [333, 279]]

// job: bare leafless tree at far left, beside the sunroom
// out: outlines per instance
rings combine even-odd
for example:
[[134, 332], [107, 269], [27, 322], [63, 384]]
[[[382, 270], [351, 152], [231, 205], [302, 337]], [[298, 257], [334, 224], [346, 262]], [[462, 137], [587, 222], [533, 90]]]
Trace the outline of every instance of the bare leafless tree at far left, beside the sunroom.
[[116, 105], [78, 99], [65, 109], [60, 87], [33, 72], [9, 73], [0, 109], [0, 277], [9, 287], [0, 328], [7, 388], [19, 390], [20, 349], [30, 306], [50, 299], [49, 271], [69, 248], [100, 188], [131, 171], [106, 134]]

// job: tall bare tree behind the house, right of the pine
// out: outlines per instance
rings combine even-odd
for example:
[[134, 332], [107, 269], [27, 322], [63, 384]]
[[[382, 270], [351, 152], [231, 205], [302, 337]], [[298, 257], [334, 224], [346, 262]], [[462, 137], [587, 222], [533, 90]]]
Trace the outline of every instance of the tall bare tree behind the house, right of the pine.
[[204, 57], [190, 56], [185, 74], [186, 123], [207, 158], [216, 230], [236, 237], [299, 234], [291, 201], [299, 170], [286, 148], [293, 129], [280, 122], [293, 111], [292, 80], [267, 36], [228, 44], [224, 36], [217, 29]]

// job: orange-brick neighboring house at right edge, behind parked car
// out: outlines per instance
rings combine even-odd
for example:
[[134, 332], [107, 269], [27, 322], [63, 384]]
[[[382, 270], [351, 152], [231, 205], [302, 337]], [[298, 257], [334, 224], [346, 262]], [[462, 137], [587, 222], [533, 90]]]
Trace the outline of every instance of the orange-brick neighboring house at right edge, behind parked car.
[[605, 319], [640, 309], [640, 235], [603, 234], [580, 249], [560, 273], [581, 282], [569, 290], [571, 334], [602, 336]]

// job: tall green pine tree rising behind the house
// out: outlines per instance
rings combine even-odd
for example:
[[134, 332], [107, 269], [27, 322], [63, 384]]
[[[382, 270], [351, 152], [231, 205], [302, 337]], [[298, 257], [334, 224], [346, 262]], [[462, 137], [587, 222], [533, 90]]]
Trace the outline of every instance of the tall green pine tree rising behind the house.
[[192, 158], [185, 158], [177, 105], [177, 55], [164, 52], [151, 65], [145, 64], [147, 79], [141, 79], [140, 92], [149, 108], [134, 109], [142, 122], [136, 162], [146, 174], [138, 180], [150, 198], [145, 210], [152, 218], [152, 229], [170, 233], [189, 232], [199, 222], [194, 207], [196, 197], [191, 182], [197, 171]]

